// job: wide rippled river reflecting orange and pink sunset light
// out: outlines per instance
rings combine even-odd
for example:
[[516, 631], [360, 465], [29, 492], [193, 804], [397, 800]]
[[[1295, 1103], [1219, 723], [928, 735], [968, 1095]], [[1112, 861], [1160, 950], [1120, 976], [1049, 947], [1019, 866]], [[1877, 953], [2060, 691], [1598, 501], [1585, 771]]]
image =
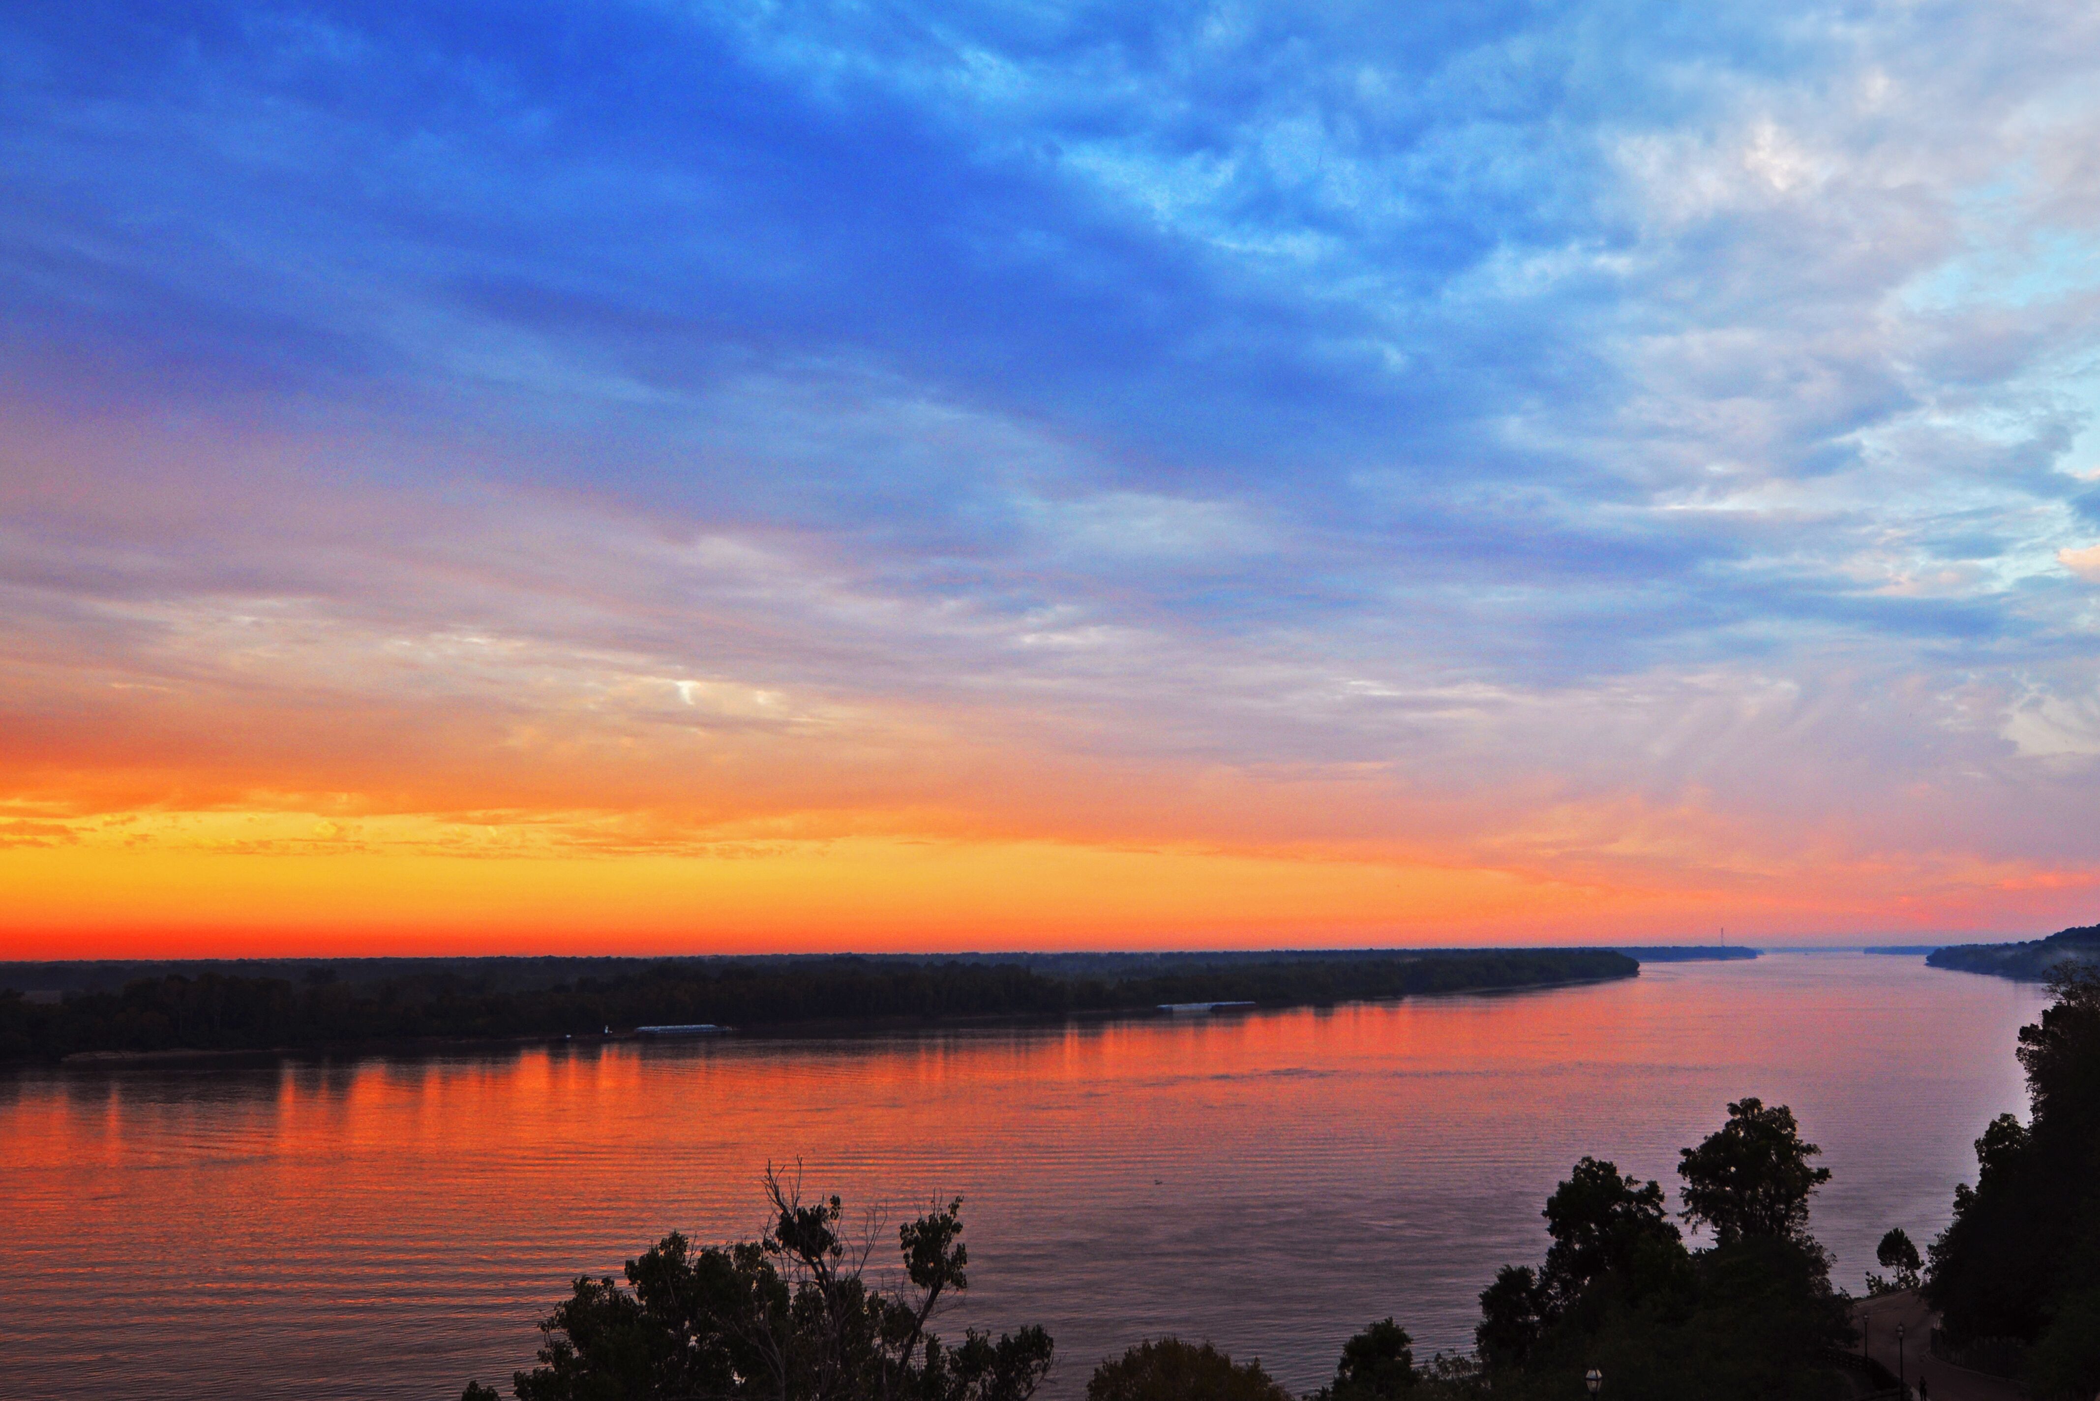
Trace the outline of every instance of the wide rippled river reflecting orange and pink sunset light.
[[947, 1321], [1044, 1323], [1050, 1397], [1144, 1336], [1306, 1390], [1394, 1315], [1470, 1344], [1596, 1153], [1676, 1187], [1728, 1099], [1787, 1103], [1854, 1292], [2024, 1111], [2037, 987], [1768, 954], [1552, 991], [863, 1038], [0, 1075], [0, 1395], [420, 1397], [527, 1365], [575, 1273], [762, 1227], [766, 1162], [895, 1220], [964, 1197]]

